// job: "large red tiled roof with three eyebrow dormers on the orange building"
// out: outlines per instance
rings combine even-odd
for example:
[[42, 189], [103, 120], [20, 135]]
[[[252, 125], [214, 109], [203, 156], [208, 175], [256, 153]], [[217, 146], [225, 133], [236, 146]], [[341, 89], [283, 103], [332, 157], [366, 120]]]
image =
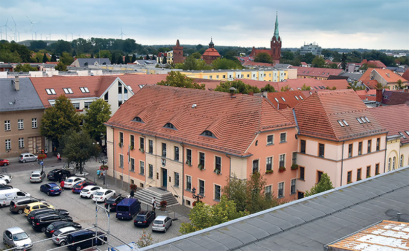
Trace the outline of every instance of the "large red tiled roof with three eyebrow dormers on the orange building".
[[[135, 117], [144, 123], [133, 122]], [[175, 129], [164, 128], [166, 123]], [[159, 85], [139, 90], [106, 124], [236, 155], [250, 154], [260, 131], [295, 126], [262, 97]], [[205, 130], [215, 138], [201, 136]]]

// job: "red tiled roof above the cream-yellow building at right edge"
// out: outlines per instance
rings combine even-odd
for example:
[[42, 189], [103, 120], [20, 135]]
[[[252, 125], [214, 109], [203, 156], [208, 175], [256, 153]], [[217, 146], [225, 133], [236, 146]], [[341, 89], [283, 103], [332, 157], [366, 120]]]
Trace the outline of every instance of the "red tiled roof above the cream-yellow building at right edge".
[[401, 132], [406, 139], [401, 138], [401, 143], [409, 143], [409, 106], [389, 105], [370, 108], [372, 114], [376, 117], [379, 123], [387, 129], [388, 135], [399, 135]]

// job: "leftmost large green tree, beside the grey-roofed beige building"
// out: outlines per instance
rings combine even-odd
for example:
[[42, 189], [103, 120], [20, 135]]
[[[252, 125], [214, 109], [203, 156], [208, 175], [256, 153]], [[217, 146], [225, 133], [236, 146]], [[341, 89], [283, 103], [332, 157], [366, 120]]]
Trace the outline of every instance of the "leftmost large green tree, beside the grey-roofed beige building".
[[80, 129], [82, 116], [64, 95], [55, 100], [54, 106], [47, 108], [41, 118], [41, 135], [50, 139], [58, 148], [64, 132]]

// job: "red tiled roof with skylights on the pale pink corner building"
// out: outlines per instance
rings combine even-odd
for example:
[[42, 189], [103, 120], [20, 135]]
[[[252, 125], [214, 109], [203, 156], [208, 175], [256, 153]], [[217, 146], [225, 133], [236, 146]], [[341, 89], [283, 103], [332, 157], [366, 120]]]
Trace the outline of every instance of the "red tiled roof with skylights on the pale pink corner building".
[[[302, 135], [339, 142], [385, 132], [352, 89], [317, 91], [294, 110]], [[360, 124], [358, 117], [371, 122]], [[340, 126], [337, 120], [346, 120], [348, 126]]]

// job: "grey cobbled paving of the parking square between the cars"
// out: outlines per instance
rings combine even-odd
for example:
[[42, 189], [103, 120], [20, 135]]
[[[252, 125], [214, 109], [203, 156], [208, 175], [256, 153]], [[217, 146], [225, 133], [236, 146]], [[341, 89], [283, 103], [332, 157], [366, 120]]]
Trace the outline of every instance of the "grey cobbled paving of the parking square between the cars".
[[[79, 194], [73, 193], [71, 190], [65, 190], [59, 196], [48, 196], [45, 193], [40, 192], [39, 187], [41, 184], [48, 182], [48, 180], [44, 180], [42, 183], [33, 183], [31, 184], [29, 181], [30, 174], [33, 170], [38, 169], [38, 164], [36, 162], [31, 163], [15, 163], [13, 168], [13, 163], [10, 164], [8, 171], [13, 176], [11, 182], [8, 185], [13, 186], [13, 188], [18, 188], [22, 191], [28, 192], [31, 196], [47, 200], [49, 204], [52, 204], [56, 209], [65, 209], [70, 212], [70, 216], [74, 219], [75, 222], [78, 222], [82, 225], [83, 228], [93, 226], [96, 222], [96, 206], [95, 202], [91, 199], [80, 198]], [[18, 165], [18, 166], [17, 166]], [[25, 166], [26, 165], [26, 166]], [[44, 168], [44, 171], [48, 173], [50, 170], [57, 167], [57, 165], [62, 166], [62, 164], [53, 164], [53, 166], [49, 165], [50, 167]], [[88, 166], [88, 171], [96, 170], [97, 166], [100, 165], [94, 162], [94, 166]], [[26, 168], [25, 168], [26, 167]], [[26, 169], [26, 170], [24, 170]], [[89, 170], [90, 169], [90, 170]], [[90, 180], [94, 181], [93, 177], [89, 177]], [[98, 186], [102, 185], [102, 180], [97, 180]], [[104, 186], [105, 187], [105, 186]], [[122, 195], [127, 195], [123, 190], [119, 190], [118, 188], [114, 187], [113, 185], [108, 186], [110, 189], [115, 189], [117, 194], [121, 193]], [[99, 204], [100, 206], [104, 206], [103, 203]], [[146, 204], [141, 204], [142, 210], [146, 210], [148, 206]], [[150, 207], [149, 207], [150, 209]], [[169, 227], [166, 233], [152, 233], [151, 226], [145, 228], [147, 233], [151, 233], [154, 239], [154, 242], [164, 241], [179, 235], [179, 228], [180, 223], [182, 221], [186, 221], [187, 217], [183, 215], [175, 215], [173, 212], [168, 211], [161, 211], [156, 210], [156, 215], [169, 215], [169, 217], [174, 218], [175, 216], [178, 220], [172, 222], [172, 226]], [[125, 221], [125, 220], [118, 220], [115, 218], [115, 212], [110, 214], [110, 233], [119, 237], [122, 241], [129, 243], [129, 242], [137, 242], [141, 233], [144, 229], [140, 229], [133, 225], [133, 220]], [[43, 233], [35, 232], [32, 228], [30, 223], [27, 221], [27, 218], [24, 214], [14, 214], [9, 211], [8, 207], [0, 209], [0, 219], [2, 219], [2, 223], [0, 224], [0, 231], [3, 235], [3, 232], [8, 229], [9, 227], [19, 226], [21, 229], [25, 230], [27, 234], [30, 235], [30, 238], [33, 242], [47, 239], [46, 235]], [[98, 226], [104, 230], [108, 229], [108, 217], [104, 211], [100, 210], [98, 212]], [[120, 241], [115, 240], [114, 238], [110, 238], [113, 246], [122, 245]], [[35, 243], [33, 246], [33, 250], [48, 250], [57, 247], [51, 240]], [[3, 244], [0, 244], [0, 249], [6, 249], [7, 247]], [[61, 249], [66, 250], [67, 247], [63, 247]], [[102, 250], [108, 249], [108, 246], [105, 244], [101, 248]]]

